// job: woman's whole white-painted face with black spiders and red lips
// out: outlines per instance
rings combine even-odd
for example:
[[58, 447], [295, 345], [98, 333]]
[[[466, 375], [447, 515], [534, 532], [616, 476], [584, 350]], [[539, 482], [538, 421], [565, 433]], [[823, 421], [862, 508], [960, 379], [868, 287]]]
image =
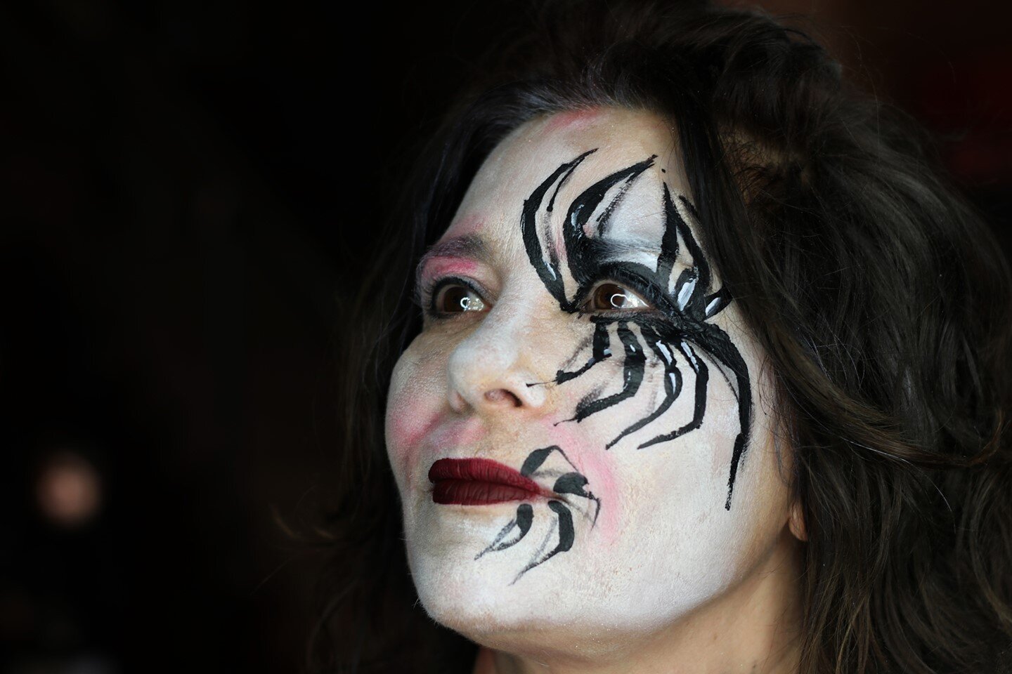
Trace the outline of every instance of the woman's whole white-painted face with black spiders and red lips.
[[782, 541], [764, 355], [671, 129], [531, 121], [419, 267], [387, 447], [426, 610], [489, 646], [606, 648], [731, 595]]

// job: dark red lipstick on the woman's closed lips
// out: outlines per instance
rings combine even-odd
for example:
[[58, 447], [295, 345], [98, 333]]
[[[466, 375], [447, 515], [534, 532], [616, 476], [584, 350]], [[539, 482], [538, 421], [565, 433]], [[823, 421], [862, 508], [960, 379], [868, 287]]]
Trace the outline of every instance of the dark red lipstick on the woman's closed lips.
[[440, 459], [429, 469], [429, 482], [436, 503], [488, 505], [553, 496], [529, 477], [490, 459]]

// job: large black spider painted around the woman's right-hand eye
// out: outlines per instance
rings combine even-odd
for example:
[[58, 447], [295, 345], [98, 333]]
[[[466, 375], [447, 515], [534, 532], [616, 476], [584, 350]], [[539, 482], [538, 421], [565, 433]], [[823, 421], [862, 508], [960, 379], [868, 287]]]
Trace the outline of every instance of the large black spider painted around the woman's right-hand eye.
[[[560, 191], [595, 152], [596, 149], [587, 151], [561, 165], [524, 200], [520, 228], [527, 258], [545, 289], [568, 313], [580, 313], [589, 291], [605, 280], [627, 285], [642, 293], [657, 310], [628, 311], [620, 317], [591, 316], [594, 326], [589, 345], [591, 354], [584, 365], [576, 370], [559, 370], [550, 382], [528, 386], [564, 384], [611, 358], [611, 326], [614, 324], [614, 335], [621, 345], [621, 389], [604, 397], [591, 393], [577, 403], [575, 414], [566, 420], [582, 421], [635, 397], [643, 382], [646, 349], [650, 349], [664, 367], [664, 396], [652, 412], [621, 430], [605, 449], [642, 430], [649, 432], [656, 425], [654, 422], [682, 392], [683, 375], [679, 362], [694, 374], [695, 401], [690, 419], [670, 430], [658, 434], [656, 430], [660, 429], [655, 429], [654, 435], [638, 445], [638, 449], [645, 449], [676, 440], [702, 425], [709, 369], [714, 366], [734, 392], [739, 410], [740, 427], [732, 453], [725, 502], [725, 508], [730, 510], [735, 478], [749, 442], [752, 392], [748, 367], [738, 348], [727, 332], [708, 320], [727, 307], [732, 297], [724, 288], [712, 288], [709, 264], [682, 215], [684, 211], [698, 222], [695, 208], [683, 195], [678, 195], [676, 204], [665, 181], [662, 181], [661, 191], [665, 222], [656, 265], [651, 267], [642, 262], [616, 259], [615, 252], [620, 251], [621, 246], [608, 239], [609, 225], [628, 190], [654, 166], [656, 155], [615, 171], [585, 189], [569, 205], [560, 222], [556, 213]], [[565, 267], [554, 244], [558, 228], [562, 229]], [[691, 265], [675, 276], [675, 264], [680, 257], [690, 259]], [[572, 279], [572, 290], [567, 287], [567, 276]], [[580, 351], [586, 348], [581, 346]]]

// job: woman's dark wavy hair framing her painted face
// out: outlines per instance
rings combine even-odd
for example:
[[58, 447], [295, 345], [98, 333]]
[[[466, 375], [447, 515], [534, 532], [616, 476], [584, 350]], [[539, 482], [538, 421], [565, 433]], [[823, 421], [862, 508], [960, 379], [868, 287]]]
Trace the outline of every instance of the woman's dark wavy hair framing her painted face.
[[346, 332], [314, 669], [470, 671], [474, 646], [417, 606], [384, 451], [390, 373], [420, 324], [411, 273], [508, 132], [603, 105], [670, 120], [704, 243], [769, 355], [808, 533], [798, 671], [1009, 671], [1012, 282], [930, 139], [760, 12], [534, 14], [421, 153]]

